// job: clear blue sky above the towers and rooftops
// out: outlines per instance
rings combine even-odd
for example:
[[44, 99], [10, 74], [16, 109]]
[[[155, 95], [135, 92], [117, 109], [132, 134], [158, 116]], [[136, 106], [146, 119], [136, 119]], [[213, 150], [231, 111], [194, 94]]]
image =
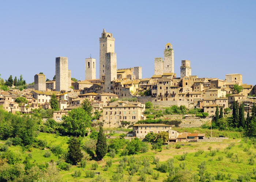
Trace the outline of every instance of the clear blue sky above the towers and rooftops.
[[113, 33], [117, 67], [142, 66], [154, 74], [154, 58], [173, 44], [174, 72], [190, 60], [192, 75], [225, 79], [243, 75], [256, 84], [256, 1], [0, 1], [0, 74], [22, 74], [27, 83], [55, 74], [55, 58], [68, 57], [72, 77], [84, 79], [85, 58], [96, 59], [99, 37]]

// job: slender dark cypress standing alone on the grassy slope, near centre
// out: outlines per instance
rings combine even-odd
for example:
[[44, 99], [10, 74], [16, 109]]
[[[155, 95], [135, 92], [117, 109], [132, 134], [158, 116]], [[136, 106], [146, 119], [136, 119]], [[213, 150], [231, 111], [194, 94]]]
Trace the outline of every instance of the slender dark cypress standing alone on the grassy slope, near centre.
[[96, 155], [99, 160], [101, 160], [106, 153], [108, 152], [107, 139], [105, 134], [103, 133], [103, 128], [99, 127], [98, 140], [96, 143]]

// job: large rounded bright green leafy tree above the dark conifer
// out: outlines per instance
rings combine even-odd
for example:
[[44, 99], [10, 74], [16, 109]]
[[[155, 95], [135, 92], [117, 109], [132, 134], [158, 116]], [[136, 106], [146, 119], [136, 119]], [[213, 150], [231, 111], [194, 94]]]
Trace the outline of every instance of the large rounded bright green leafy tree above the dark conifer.
[[84, 136], [91, 127], [91, 117], [82, 108], [75, 108], [63, 116], [63, 130], [73, 136]]

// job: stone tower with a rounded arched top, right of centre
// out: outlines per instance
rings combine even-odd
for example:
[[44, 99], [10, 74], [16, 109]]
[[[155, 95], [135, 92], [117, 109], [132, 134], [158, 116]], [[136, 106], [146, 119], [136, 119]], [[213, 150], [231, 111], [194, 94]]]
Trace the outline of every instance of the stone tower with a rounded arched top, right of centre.
[[167, 43], [165, 45], [163, 56], [163, 73], [174, 73], [174, 54], [172, 44]]

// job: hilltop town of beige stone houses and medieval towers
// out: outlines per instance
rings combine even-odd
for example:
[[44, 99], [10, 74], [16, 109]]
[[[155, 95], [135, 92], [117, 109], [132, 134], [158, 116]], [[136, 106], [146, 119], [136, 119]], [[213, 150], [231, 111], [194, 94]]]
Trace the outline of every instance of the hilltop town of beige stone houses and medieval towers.
[[[143, 120], [146, 102], [154, 106], [172, 105], [187, 108], [200, 108], [213, 116], [216, 107], [231, 107], [234, 101], [244, 103], [245, 111], [251, 111], [255, 102], [256, 86], [242, 83], [241, 74], [226, 74], [225, 80], [218, 78], [198, 78], [191, 75], [189, 60], [181, 60], [180, 77], [174, 73], [174, 50], [170, 43], [165, 45], [163, 58], [155, 58], [154, 75], [142, 78], [142, 66], [117, 69], [114, 52], [114, 37], [103, 29], [99, 38], [99, 79], [96, 79], [96, 60], [85, 59], [85, 80], [71, 80], [68, 70], [68, 58], [56, 58], [55, 80], [46, 81], [43, 73], [34, 75], [34, 85], [19, 90], [1, 91], [0, 105], [8, 111], [30, 112], [35, 108], [50, 108], [50, 99], [54, 93], [58, 99], [59, 111], [53, 118], [61, 120], [69, 110], [78, 107], [84, 99], [89, 99], [93, 112], [102, 111], [100, 120], [109, 121], [118, 127], [121, 120], [137, 122]], [[234, 90], [240, 86], [240, 92]], [[19, 106], [15, 102], [18, 96], [28, 100]], [[113, 102], [118, 99], [136, 102]], [[132, 112], [125, 112], [132, 108]], [[114, 110], [112, 112], [112, 110]], [[108, 113], [108, 114], [106, 114]]]

